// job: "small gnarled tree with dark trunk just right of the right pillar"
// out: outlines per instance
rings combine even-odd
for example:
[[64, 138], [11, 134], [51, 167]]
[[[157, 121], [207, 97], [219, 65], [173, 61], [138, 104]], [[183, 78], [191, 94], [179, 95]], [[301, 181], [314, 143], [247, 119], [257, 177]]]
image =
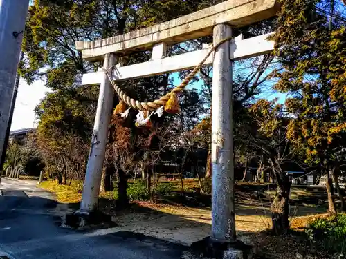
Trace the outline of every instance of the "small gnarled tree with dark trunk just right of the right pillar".
[[264, 99], [251, 106], [250, 112], [257, 123], [258, 131], [251, 138], [251, 146], [260, 150], [263, 162], [271, 170], [277, 182], [275, 198], [271, 205], [273, 233], [286, 234], [289, 231], [289, 195], [291, 182], [283, 166], [292, 161], [293, 151], [286, 139], [287, 125], [290, 119], [284, 113], [284, 107]]

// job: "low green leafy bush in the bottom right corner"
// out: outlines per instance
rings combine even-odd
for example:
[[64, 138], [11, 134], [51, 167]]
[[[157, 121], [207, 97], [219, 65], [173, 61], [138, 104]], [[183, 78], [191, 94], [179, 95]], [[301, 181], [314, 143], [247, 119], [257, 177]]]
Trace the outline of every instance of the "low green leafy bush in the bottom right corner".
[[319, 247], [343, 254], [346, 250], [346, 214], [340, 213], [330, 218], [313, 220], [306, 233]]

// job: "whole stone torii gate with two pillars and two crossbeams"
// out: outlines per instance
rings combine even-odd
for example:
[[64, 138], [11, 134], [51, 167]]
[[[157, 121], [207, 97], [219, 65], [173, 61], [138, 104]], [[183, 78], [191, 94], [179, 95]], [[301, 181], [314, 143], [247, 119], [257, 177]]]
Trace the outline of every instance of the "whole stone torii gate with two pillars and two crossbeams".
[[[108, 70], [118, 55], [152, 49], [152, 58], [130, 66], [117, 65], [115, 81], [149, 77], [197, 66], [211, 47], [166, 57], [166, 46], [213, 35], [217, 44], [232, 36], [232, 28], [273, 17], [279, 8], [275, 0], [228, 0], [190, 15], [97, 41], [77, 41], [77, 50], [87, 61], [100, 61]], [[220, 241], [235, 241], [235, 177], [233, 171], [232, 61], [263, 55], [273, 50], [268, 35], [234, 39], [221, 44], [204, 64], [212, 64], [212, 231]], [[80, 211], [97, 208], [102, 166], [109, 131], [113, 88], [107, 75], [98, 71], [83, 75], [83, 85], [100, 84], [98, 108]]]

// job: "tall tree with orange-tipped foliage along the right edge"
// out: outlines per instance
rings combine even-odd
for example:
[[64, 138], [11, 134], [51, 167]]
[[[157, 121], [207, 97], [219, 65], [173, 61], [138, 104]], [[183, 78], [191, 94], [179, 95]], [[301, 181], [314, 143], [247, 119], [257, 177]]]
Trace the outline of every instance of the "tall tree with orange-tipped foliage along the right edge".
[[304, 150], [307, 163], [327, 175], [330, 213], [336, 212], [331, 174], [339, 171], [346, 151], [346, 19], [339, 4], [282, 1], [274, 37], [275, 55], [283, 68], [275, 89], [290, 95], [286, 108], [295, 118], [287, 137]]

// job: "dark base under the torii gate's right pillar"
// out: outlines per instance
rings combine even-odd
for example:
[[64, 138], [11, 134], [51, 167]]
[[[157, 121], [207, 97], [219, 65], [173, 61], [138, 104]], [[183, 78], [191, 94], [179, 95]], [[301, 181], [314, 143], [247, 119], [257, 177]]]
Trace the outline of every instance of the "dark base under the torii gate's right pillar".
[[210, 237], [191, 244], [189, 251], [183, 253], [182, 259], [252, 259], [254, 249], [242, 241], [221, 242]]

